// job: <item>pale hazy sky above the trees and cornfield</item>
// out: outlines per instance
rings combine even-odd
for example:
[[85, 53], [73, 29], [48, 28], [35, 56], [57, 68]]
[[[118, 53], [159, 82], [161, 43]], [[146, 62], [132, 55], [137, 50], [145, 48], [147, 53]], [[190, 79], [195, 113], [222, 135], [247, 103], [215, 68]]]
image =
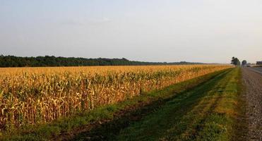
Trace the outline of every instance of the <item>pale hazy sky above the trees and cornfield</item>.
[[262, 61], [261, 0], [0, 0], [0, 54]]

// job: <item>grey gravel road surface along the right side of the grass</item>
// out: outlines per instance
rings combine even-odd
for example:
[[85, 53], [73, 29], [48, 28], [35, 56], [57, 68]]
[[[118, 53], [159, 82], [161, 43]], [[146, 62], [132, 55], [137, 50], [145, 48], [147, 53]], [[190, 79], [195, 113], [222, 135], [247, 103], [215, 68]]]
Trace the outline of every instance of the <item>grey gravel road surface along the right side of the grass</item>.
[[262, 140], [262, 68], [242, 68], [246, 85], [249, 140]]

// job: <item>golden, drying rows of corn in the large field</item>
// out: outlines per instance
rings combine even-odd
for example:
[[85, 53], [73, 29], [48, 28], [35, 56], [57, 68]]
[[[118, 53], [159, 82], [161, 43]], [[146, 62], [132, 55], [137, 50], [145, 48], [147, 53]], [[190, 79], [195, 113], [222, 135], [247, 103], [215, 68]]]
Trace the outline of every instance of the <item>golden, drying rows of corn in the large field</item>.
[[114, 104], [229, 67], [0, 68], [0, 132]]

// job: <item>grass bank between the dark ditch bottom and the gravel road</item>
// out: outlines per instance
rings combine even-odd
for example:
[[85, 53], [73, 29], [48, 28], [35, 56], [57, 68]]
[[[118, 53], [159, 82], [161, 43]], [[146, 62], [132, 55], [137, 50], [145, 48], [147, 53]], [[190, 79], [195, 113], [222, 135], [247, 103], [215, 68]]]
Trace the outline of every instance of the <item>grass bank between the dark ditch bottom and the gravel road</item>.
[[241, 71], [220, 73], [177, 94], [160, 110], [121, 130], [112, 140], [239, 140]]

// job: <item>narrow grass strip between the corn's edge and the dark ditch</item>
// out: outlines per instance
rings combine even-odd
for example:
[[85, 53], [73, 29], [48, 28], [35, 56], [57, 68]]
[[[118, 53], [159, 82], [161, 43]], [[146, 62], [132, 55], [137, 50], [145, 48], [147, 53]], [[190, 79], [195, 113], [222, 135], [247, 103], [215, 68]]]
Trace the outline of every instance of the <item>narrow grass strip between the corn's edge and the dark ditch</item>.
[[[210, 73], [199, 78], [171, 85], [164, 90], [149, 92], [148, 94], [134, 97], [133, 99], [126, 100], [119, 104], [102, 106], [93, 111], [76, 114], [75, 116], [70, 116], [68, 118], [61, 118], [49, 124], [33, 125], [23, 129], [14, 130], [12, 133], [3, 133], [0, 140], [64, 140], [68, 137], [71, 138], [75, 135], [81, 135], [81, 133], [97, 129], [97, 127], [99, 128], [101, 125], [107, 125], [106, 123], [112, 123], [111, 121], [114, 119], [126, 119], [126, 116], [124, 115], [129, 115], [130, 113], [135, 113], [136, 115], [147, 115], [161, 108], [162, 104], [177, 97], [177, 94], [182, 95], [182, 93], [190, 92], [190, 89], [193, 87], [202, 85], [204, 82], [213, 79], [214, 77], [217, 78], [218, 75], [225, 74], [227, 71], [229, 70], [227, 69], [225, 71]], [[179, 97], [177, 97], [177, 99], [179, 99]], [[143, 118], [143, 116], [139, 117], [139, 119], [140, 118]], [[123, 128], [123, 125], [129, 125], [129, 123], [126, 123], [129, 121], [132, 121], [132, 119], [124, 120], [124, 123], [119, 124], [120, 126], [117, 126], [114, 130], [120, 131], [121, 128]], [[100, 130], [100, 132], [103, 131], [105, 130]], [[115, 134], [112, 136], [111, 134], [107, 135], [107, 137], [116, 137]]]

